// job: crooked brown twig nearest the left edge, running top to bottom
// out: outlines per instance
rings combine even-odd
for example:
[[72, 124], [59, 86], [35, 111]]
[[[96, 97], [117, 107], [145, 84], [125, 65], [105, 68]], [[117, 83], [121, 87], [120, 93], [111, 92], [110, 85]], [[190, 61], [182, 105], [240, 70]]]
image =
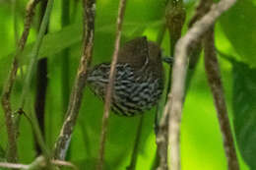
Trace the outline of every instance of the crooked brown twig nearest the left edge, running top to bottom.
[[3, 95], [2, 95], [2, 106], [5, 113], [5, 122], [7, 127], [7, 135], [8, 135], [8, 151], [7, 151], [7, 160], [10, 162], [16, 162], [17, 160], [17, 143], [16, 143], [16, 128], [14, 122], [12, 120], [12, 106], [11, 106], [11, 91], [13, 85], [15, 83], [18, 67], [19, 67], [19, 60], [21, 57], [21, 53], [24, 50], [26, 45], [30, 29], [32, 26], [32, 17], [34, 16], [34, 9], [36, 4], [39, 0], [31, 0], [27, 5], [27, 13], [24, 25], [24, 31], [22, 37], [18, 43], [18, 48], [15, 53], [14, 61], [12, 63], [12, 69], [9, 73], [9, 77], [7, 79], [6, 84], [4, 85]]

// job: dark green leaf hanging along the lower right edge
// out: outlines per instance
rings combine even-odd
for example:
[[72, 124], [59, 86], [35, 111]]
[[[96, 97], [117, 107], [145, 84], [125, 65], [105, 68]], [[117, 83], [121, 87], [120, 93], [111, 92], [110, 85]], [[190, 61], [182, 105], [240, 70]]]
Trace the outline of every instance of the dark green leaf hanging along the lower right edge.
[[233, 126], [240, 153], [251, 169], [256, 169], [256, 69], [232, 61]]

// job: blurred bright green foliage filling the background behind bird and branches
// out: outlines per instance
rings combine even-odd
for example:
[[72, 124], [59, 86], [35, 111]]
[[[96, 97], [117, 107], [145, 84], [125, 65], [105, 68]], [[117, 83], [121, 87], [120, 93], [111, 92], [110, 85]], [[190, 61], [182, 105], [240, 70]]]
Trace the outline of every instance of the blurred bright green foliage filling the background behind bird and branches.
[[[69, 47], [70, 85], [73, 85], [82, 39], [82, 7], [79, 2], [71, 3], [71, 24], [61, 28], [61, 1], [55, 1], [51, 15], [49, 33], [45, 35], [39, 57], [48, 57], [48, 88], [46, 99], [45, 132], [46, 142], [52, 147], [62, 125], [61, 95], [61, 55]], [[98, 0], [96, 2], [96, 39], [93, 65], [111, 60], [115, 20], [118, 0]], [[0, 92], [10, 70], [15, 52], [14, 14], [17, 15], [18, 33], [23, 30], [25, 6], [27, 1], [20, 0], [17, 11], [12, 10], [13, 1], [0, 1]], [[187, 11], [186, 24], [194, 14], [196, 3], [185, 1]], [[129, 0], [125, 13], [122, 42], [139, 35], [147, 35], [156, 40], [164, 23], [165, 0]], [[73, 11], [72, 11], [73, 9]], [[217, 48], [229, 56], [229, 60], [220, 57], [225, 98], [231, 124], [237, 139], [237, 152], [242, 170], [256, 169], [256, 1], [238, 1], [221, 17], [216, 26]], [[37, 18], [34, 19], [28, 45], [23, 53], [23, 69], [26, 73], [26, 57], [31, 52], [36, 36]], [[162, 44], [164, 54], [169, 54], [168, 33]], [[235, 57], [231, 57], [235, 56]], [[231, 59], [230, 59], [231, 58]], [[167, 66], [165, 66], [167, 68]], [[12, 95], [14, 109], [17, 109], [24, 80], [18, 72], [17, 82]], [[34, 87], [28, 96], [31, 102], [27, 110], [33, 107]], [[72, 139], [70, 160], [81, 169], [93, 169], [97, 153], [103, 103], [88, 89], [85, 89], [82, 109]], [[139, 145], [137, 169], [150, 169], [156, 154], [154, 134], [155, 109], [145, 113], [143, 132]], [[107, 169], [125, 169], [129, 165], [134, 145], [138, 117], [126, 118], [110, 115], [107, 134], [105, 164]], [[213, 97], [208, 86], [201, 57], [184, 104], [181, 127], [181, 161], [184, 170], [224, 170], [226, 160], [222, 134], [214, 107]], [[7, 145], [4, 116], [0, 107], [0, 160]], [[3, 149], [2, 149], [3, 148]], [[19, 135], [20, 162], [30, 163], [35, 156], [32, 128], [26, 118], [22, 118]]]

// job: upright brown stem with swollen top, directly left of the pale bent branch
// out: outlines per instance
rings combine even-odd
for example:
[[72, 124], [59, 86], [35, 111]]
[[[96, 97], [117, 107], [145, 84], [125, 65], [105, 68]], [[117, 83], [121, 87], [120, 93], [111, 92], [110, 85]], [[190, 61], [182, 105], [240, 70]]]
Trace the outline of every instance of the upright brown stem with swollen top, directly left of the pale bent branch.
[[[181, 36], [181, 30], [183, 28], [185, 22], [186, 12], [183, 7], [182, 0], [169, 0], [166, 5], [165, 10], [165, 20], [166, 20], [166, 28], [169, 31], [169, 41], [170, 41], [170, 56], [174, 54], [174, 48], [177, 40]], [[165, 102], [167, 100], [167, 95], [170, 90], [171, 83], [171, 65], [169, 65], [168, 72], [168, 80], [167, 80], [167, 88], [165, 95]], [[162, 106], [163, 107], [163, 106]], [[161, 110], [162, 111], [162, 110]], [[160, 118], [159, 132], [157, 133], [157, 154], [159, 160], [158, 170], [166, 170], [167, 169], [167, 139], [168, 139], [168, 115], [165, 113]]]

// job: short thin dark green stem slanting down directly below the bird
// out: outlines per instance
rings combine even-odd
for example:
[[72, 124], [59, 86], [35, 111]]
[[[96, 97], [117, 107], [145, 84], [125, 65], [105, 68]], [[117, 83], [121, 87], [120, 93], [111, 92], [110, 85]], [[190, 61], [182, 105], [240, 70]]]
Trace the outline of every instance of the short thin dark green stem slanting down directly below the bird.
[[133, 146], [132, 158], [130, 161], [130, 165], [126, 168], [126, 170], [135, 170], [135, 168], [136, 168], [136, 163], [137, 163], [137, 158], [138, 158], [138, 153], [139, 153], [140, 139], [142, 137], [143, 120], [144, 120], [144, 115], [141, 115], [139, 126], [137, 128], [136, 139], [135, 139], [134, 146]]

